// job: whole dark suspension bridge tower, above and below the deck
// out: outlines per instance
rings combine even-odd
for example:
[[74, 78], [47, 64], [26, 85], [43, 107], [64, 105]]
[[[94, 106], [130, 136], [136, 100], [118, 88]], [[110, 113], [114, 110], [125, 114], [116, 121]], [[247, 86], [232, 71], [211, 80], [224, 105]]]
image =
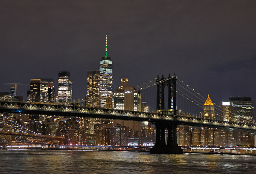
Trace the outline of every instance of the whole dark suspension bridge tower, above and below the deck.
[[[157, 113], [176, 115], [176, 80], [177, 77], [171, 77], [169, 74], [168, 79], [156, 79], [156, 109]], [[165, 87], [168, 87], [168, 110], [165, 110]], [[167, 124], [163, 122], [155, 122], [156, 138], [155, 145], [150, 149], [153, 154], [183, 154], [183, 150], [177, 143], [177, 124]], [[168, 130], [167, 143], [165, 141], [165, 129]]]

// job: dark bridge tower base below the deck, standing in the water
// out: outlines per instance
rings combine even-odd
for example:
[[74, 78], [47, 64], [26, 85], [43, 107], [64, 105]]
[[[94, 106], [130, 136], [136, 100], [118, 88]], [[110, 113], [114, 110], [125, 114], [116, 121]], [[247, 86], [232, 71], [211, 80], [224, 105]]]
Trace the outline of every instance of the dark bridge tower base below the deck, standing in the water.
[[[168, 129], [167, 144], [165, 142], [165, 129]], [[156, 123], [155, 145], [150, 149], [151, 154], [183, 154], [177, 143], [177, 125]]]

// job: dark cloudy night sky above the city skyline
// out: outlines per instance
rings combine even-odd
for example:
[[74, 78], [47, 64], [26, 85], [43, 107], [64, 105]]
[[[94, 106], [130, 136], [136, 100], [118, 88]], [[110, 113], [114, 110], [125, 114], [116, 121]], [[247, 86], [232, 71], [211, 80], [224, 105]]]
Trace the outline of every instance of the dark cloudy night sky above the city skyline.
[[73, 98], [86, 95], [87, 71], [113, 60], [113, 89], [174, 73], [220, 105], [256, 101], [256, 1], [0, 0], [0, 92], [30, 79], [71, 73]]

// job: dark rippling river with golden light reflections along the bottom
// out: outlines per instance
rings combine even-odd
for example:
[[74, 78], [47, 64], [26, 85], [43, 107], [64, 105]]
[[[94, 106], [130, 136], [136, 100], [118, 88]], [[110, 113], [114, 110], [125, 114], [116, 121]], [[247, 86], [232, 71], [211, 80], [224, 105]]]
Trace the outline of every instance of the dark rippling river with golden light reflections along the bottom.
[[256, 156], [0, 150], [0, 173], [255, 173]]

